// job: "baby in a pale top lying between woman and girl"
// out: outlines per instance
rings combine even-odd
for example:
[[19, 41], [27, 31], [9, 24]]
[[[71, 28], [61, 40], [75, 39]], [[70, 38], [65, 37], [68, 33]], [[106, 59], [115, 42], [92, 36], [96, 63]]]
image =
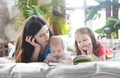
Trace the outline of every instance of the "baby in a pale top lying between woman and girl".
[[71, 64], [71, 55], [64, 52], [64, 43], [59, 36], [52, 36], [50, 38], [50, 51], [47, 58], [44, 60], [45, 63], [66, 63]]

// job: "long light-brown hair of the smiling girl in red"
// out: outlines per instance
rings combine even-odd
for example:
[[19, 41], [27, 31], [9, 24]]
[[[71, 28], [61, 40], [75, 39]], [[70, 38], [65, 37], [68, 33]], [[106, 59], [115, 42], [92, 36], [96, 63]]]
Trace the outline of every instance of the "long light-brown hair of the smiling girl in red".
[[[75, 34], [77, 34], [77, 33], [89, 35], [89, 37], [91, 38], [91, 41], [92, 41], [92, 45], [93, 45], [93, 53], [97, 56], [98, 55], [97, 52], [98, 52], [100, 43], [96, 40], [96, 37], [95, 37], [93, 31], [88, 27], [81, 27], [76, 30]], [[75, 40], [75, 50], [76, 50], [77, 55], [81, 55], [81, 51], [78, 48], [76, 40]]]

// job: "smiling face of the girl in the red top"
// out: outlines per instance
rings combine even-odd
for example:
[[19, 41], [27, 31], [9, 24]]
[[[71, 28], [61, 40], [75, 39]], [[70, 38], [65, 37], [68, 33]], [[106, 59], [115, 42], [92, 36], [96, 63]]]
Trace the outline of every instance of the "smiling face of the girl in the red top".
[[87, 50], [89, 45], [92, 44], [91, 38], [87, 34], [76, 33], [75, 40], [78, 48], [82, 50]]

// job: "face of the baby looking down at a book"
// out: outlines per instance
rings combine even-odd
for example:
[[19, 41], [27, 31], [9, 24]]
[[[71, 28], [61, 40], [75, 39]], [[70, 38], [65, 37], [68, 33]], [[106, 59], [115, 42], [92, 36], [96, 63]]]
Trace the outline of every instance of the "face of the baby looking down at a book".
[[62, 44], [58, 44], [57, 46], [50, 46], [51, 55], [54, 56], [56, 59], [59, 59], [64, 54], [64, 47]]

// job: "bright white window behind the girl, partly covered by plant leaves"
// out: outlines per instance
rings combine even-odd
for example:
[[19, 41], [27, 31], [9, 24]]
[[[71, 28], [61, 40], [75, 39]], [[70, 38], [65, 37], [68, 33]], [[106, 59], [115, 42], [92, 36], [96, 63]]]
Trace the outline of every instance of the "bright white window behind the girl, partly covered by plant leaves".
[[84, 22], [86, 14], [85, 8], [97, 4], [95, 0], [66, 0], [66, 22], [72, 28], [72, 36], [74, 36], [75, 30], [81, 26], [91, 27], [95, 31], [105, 25], [106, 16], [104, 9], [99, 11], [101, 14], [99, 19], [90, 20], [87, 24]]

